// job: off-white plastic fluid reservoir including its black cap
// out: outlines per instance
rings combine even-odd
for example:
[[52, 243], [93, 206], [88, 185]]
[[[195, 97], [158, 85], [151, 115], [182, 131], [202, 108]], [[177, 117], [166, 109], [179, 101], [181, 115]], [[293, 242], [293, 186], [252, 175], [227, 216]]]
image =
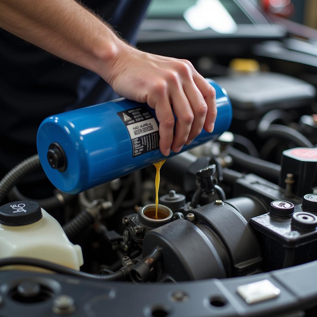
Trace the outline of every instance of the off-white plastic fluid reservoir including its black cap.
[[81, 247], [71, 243], [58, 221], [33, 201], [0, 207], [0, 258], [8, 257], [36, 258], [76, 270], [83, 264]]

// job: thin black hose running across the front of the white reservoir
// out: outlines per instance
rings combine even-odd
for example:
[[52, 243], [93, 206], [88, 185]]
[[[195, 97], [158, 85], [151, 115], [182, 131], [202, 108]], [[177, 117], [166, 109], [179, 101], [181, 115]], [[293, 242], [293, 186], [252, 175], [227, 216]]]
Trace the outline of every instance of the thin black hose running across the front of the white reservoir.
[[72, 268], [68, 268], [66, 266], [62, 266], [59, 264], [55, 264], [53, 262], [48, 262], [39, 259], [32, 259], [32, 258], [20, 258], [20, 257], [10, 257], [0, 259], [0, 267], [8, 266], [8, 265], [27, 265], [27, 266], [35, 266], [38, 268], [44, 268], [56, 273], [72, 275], [77, 277], [85, 277], [93, 280], [98, 281], [119, 281], [123, 280], [124, 273], [119, 270], [107, 275], [99, 275], [99, 274], [91, 274], [86, 272], [81, 272], [74, 270]]

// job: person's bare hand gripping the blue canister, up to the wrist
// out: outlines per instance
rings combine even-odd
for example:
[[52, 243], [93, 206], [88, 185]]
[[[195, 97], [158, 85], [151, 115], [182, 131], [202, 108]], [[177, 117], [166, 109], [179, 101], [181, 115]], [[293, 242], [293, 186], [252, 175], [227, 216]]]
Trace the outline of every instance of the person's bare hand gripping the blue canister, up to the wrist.
[[[99, 71], [113, 90], [146, 102], [159, 121], [159, 147], [179, 152], [204, 129], [212, 132], [217, 115], [215, 89], [189, 61], [153, 55], [123, 44], [109, 67]], [[172, 105], [172, 107], [171, 107]], [[177, 118], [174, 134], [175, 119]]]

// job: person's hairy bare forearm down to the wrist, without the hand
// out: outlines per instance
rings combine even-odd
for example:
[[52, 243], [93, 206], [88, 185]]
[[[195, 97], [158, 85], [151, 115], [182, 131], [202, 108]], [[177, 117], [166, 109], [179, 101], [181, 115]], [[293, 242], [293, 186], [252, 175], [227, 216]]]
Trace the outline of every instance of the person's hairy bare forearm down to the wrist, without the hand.
[[74, 0], [0, 0], [0, 27], [96, 73], [125, 45]]

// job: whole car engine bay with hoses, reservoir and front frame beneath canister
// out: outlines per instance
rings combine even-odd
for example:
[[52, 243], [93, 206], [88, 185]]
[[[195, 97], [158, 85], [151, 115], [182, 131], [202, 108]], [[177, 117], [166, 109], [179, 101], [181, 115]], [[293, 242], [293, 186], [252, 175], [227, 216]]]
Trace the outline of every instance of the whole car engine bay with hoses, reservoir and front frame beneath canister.
[[[300, 303], [294, 316], [314, 316], [315, 88], [274, 73], [215, 79], [229, 94], [232, 125], [166, 160], [157, 219], [154, 166], [41, 200], [18, 189], [41, 170], [38, 155], [2, 179], [3, 314], [275, 316]], [[37, 232], [40, 219], [56, 228]]]

